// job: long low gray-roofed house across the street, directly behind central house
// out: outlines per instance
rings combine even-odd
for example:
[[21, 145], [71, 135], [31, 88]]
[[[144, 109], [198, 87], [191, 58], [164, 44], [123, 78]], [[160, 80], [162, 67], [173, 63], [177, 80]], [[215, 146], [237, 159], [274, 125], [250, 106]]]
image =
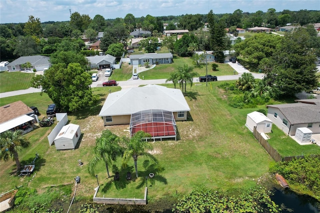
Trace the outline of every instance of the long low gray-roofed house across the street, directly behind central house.
[[145, 54], [132, 54], [130, 55], [131, 65], [144, 64], [149, 62], [149, 64], [158, 63], [172, 63], [172, 53], [145, 53]]

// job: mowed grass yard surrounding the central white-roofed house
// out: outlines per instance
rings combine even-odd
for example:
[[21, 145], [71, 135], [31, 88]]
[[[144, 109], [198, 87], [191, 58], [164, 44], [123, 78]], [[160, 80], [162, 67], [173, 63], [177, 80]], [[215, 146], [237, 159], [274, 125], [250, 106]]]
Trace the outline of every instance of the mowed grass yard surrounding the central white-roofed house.
[[[152, 142], [154, 156], [163, 167], [162, 172], [143, 166], [143, 157], [138, 159], [139, 177], [134, 176], [133, 160], [128, 167], [120, 167], [120, 159], [110, 166], [113, 175], [120, 171], [120, 181], [106, 178], [103, 163], [97, 165], [97, 175], [100, 183], [98, 195], [105, 197], [143, 197], [145, 176], [154, 172], [155, 177], [148, 181], [148, 200], [190, 191], [196, 185], [210, 188], [222, 188], [225, 191], [242, 190], [255, 185], [259, 176], [268, 170], [271, 157], [256, 142], [251, 132], [244, 126], [246, 114], [255, 109], [235, 109], [227, 105], [223, 91], [217, 88], [221, 82], [210, 82], [212, 91], [204, 83], [196, 83], [190, 89], [187, 87], [186, 100], [191, 108], [187, 121], [177, 122], [180, 140], [165, 140]], [[168, 84], [167, 86], [173, 86]], [[113, 91], [120, 87], [110, 87]], [[12, 161], [1, 161], [0, 191], [4, 192], [14, 186], [27, 184], [41, 192], [45, 186], [74, 182], [79, 175], [81, 183], [77, 194], [90, 197], [96, 187], [96, 179], [87, 172], [87, 163], [92, 158], [95, 139], [104, 129], [110, 129], [117, 135], [128, 135], [128, 125], [103, 126], [101, 117], [97, 116], [103, 101], [108, 94], [108, 88], [94, 88], [94, 93], [101, 99], [98, 105], [77, 113], [69, 113], [70, 123], [79, 124], [81, 140], [74, 150], [56, 150], [49, 146], [46, 135], [53, 126], [39, 127], [25, 136], [30, 140], [30, 146], [20, 153], [23, 164], [33, 160], [34, 154], [40, 158], [35, 161], [34, 178], [32, 176], [18, 177], [12, 173], [15, 165]], [[15, 100], [27, 102], [37, 100], [40, 112], [50, 100], [38, 93], [1, 98], [1, 105]], [[84, 163], [78, 166], [78, 160]], [[132, 180], [125, 180], [126, 171], [132, 172]], [[113, 171], [113, 172], [112, 172]], [[5, 183], [5, 184], [4, 184]], [[151, 186], [151, 187], [150, 187]]]

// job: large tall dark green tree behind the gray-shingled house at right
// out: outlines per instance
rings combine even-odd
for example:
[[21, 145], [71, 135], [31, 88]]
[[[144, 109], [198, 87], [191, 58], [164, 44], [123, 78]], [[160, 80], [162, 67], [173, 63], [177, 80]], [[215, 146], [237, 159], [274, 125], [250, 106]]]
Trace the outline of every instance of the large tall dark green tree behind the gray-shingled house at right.
[[275, 97], [294, 96], [317, 85], [316, 56], [308, 46], [309, 40], [306, 28], [295, 28], [284, 36], [273, 55], [264, 60], [264, 79]]

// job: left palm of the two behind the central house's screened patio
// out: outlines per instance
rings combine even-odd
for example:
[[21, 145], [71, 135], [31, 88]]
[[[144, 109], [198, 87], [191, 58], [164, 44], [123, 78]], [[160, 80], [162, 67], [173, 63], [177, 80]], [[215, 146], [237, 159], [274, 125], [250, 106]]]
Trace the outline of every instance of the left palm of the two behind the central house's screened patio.
[[118, 136], [116, 134], [106, 129], [102, 131], [100, 137], [96, 138], [94, 156], [88, 164], [88, 171], [90, 175], [95, 175], [95, 166], [97, 162], [103, 161], [108, 178], [110, 177], [108, 165], [122, 153], [122, 148], [117, 143], [117, 137]]

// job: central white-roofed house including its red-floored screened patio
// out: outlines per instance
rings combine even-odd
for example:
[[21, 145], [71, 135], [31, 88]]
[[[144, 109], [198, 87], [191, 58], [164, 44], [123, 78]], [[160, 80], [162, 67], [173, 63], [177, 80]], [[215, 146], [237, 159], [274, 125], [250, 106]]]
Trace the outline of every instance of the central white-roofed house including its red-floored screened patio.
[[130, 124], [131, 135], [144, 130], [162, 138], [176, 137], [175, 120], [186, 120], [188, 111], [180, 89], [149, 84], [108, 94], [99, 116], [104, 125]]

